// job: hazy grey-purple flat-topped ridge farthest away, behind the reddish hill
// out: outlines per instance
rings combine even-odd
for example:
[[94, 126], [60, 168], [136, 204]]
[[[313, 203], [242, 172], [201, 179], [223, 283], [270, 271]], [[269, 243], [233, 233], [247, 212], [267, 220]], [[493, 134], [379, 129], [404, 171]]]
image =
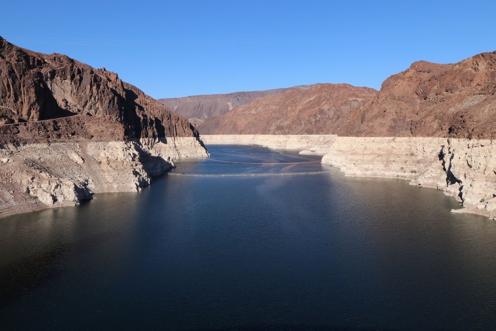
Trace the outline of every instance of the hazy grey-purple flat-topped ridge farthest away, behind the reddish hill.
[[220, 116], [256, 98], [277, 95], [289, 90], [306, 90], [311, 85], [266, 91], [234, 92], [228, 94], [193, 95], [183, 98], [158, 99], [161, 103], [186, 116], [192, 123], [199, 124], [209, 117]]

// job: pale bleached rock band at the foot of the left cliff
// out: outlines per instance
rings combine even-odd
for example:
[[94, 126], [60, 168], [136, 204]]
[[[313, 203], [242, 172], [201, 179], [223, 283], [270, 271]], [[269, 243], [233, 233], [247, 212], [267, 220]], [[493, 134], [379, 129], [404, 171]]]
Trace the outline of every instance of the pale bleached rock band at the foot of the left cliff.
[[196, 137], [0, 145], [0, 218], [139, 191], [174, 160], [207, 156]]

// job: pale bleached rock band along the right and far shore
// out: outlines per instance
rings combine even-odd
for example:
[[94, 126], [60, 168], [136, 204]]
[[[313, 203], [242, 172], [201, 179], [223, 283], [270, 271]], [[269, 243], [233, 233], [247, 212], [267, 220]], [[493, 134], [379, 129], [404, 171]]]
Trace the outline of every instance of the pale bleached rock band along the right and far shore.
[[397, 178], [443, 190], [454, 212], [496, 218], [496, 144], [492, 140], [336, 135], [202, 135], [206, 144], [254, 144], [323, 155], [345, 176]]

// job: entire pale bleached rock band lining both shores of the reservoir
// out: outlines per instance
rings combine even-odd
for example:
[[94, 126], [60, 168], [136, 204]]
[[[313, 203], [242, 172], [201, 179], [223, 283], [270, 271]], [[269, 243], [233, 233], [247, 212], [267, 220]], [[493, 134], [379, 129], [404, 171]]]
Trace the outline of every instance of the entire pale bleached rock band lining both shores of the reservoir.
[[257, 145], [321, 155], [344, 176], [408, 180], [461, 202], [456, 213], [496, 219], [496, 144], [491, 140], [337, 135], [202, 135], [163, 141], [0, 146], [0, 219], [75, 206], [103, 192], [139, 191], [174, 160], [205, 158], [205, 145]]

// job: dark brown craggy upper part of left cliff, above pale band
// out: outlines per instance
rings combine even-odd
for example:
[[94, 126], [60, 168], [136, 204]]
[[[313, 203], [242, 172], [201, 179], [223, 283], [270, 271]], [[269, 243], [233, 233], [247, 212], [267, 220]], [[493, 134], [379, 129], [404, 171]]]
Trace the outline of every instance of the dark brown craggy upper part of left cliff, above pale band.
[[[84, 127], [85, 134], [102, 131], [100, 138], [110, 139], [101, 124], [113, 121], [122, 127], [109, 129], [109, 134], [119, 132], [115, 138], [197, 136], [185, 117], [123, 82], [117, 74], [62, 54], [23, 49], [0, 37], [0, 124], [74, 115], [79, 117], [79, 124], [69, 132], [71, 135], [79, 134], [78, 129]], [[72, 120], [57, 121], [64, 127]]]

